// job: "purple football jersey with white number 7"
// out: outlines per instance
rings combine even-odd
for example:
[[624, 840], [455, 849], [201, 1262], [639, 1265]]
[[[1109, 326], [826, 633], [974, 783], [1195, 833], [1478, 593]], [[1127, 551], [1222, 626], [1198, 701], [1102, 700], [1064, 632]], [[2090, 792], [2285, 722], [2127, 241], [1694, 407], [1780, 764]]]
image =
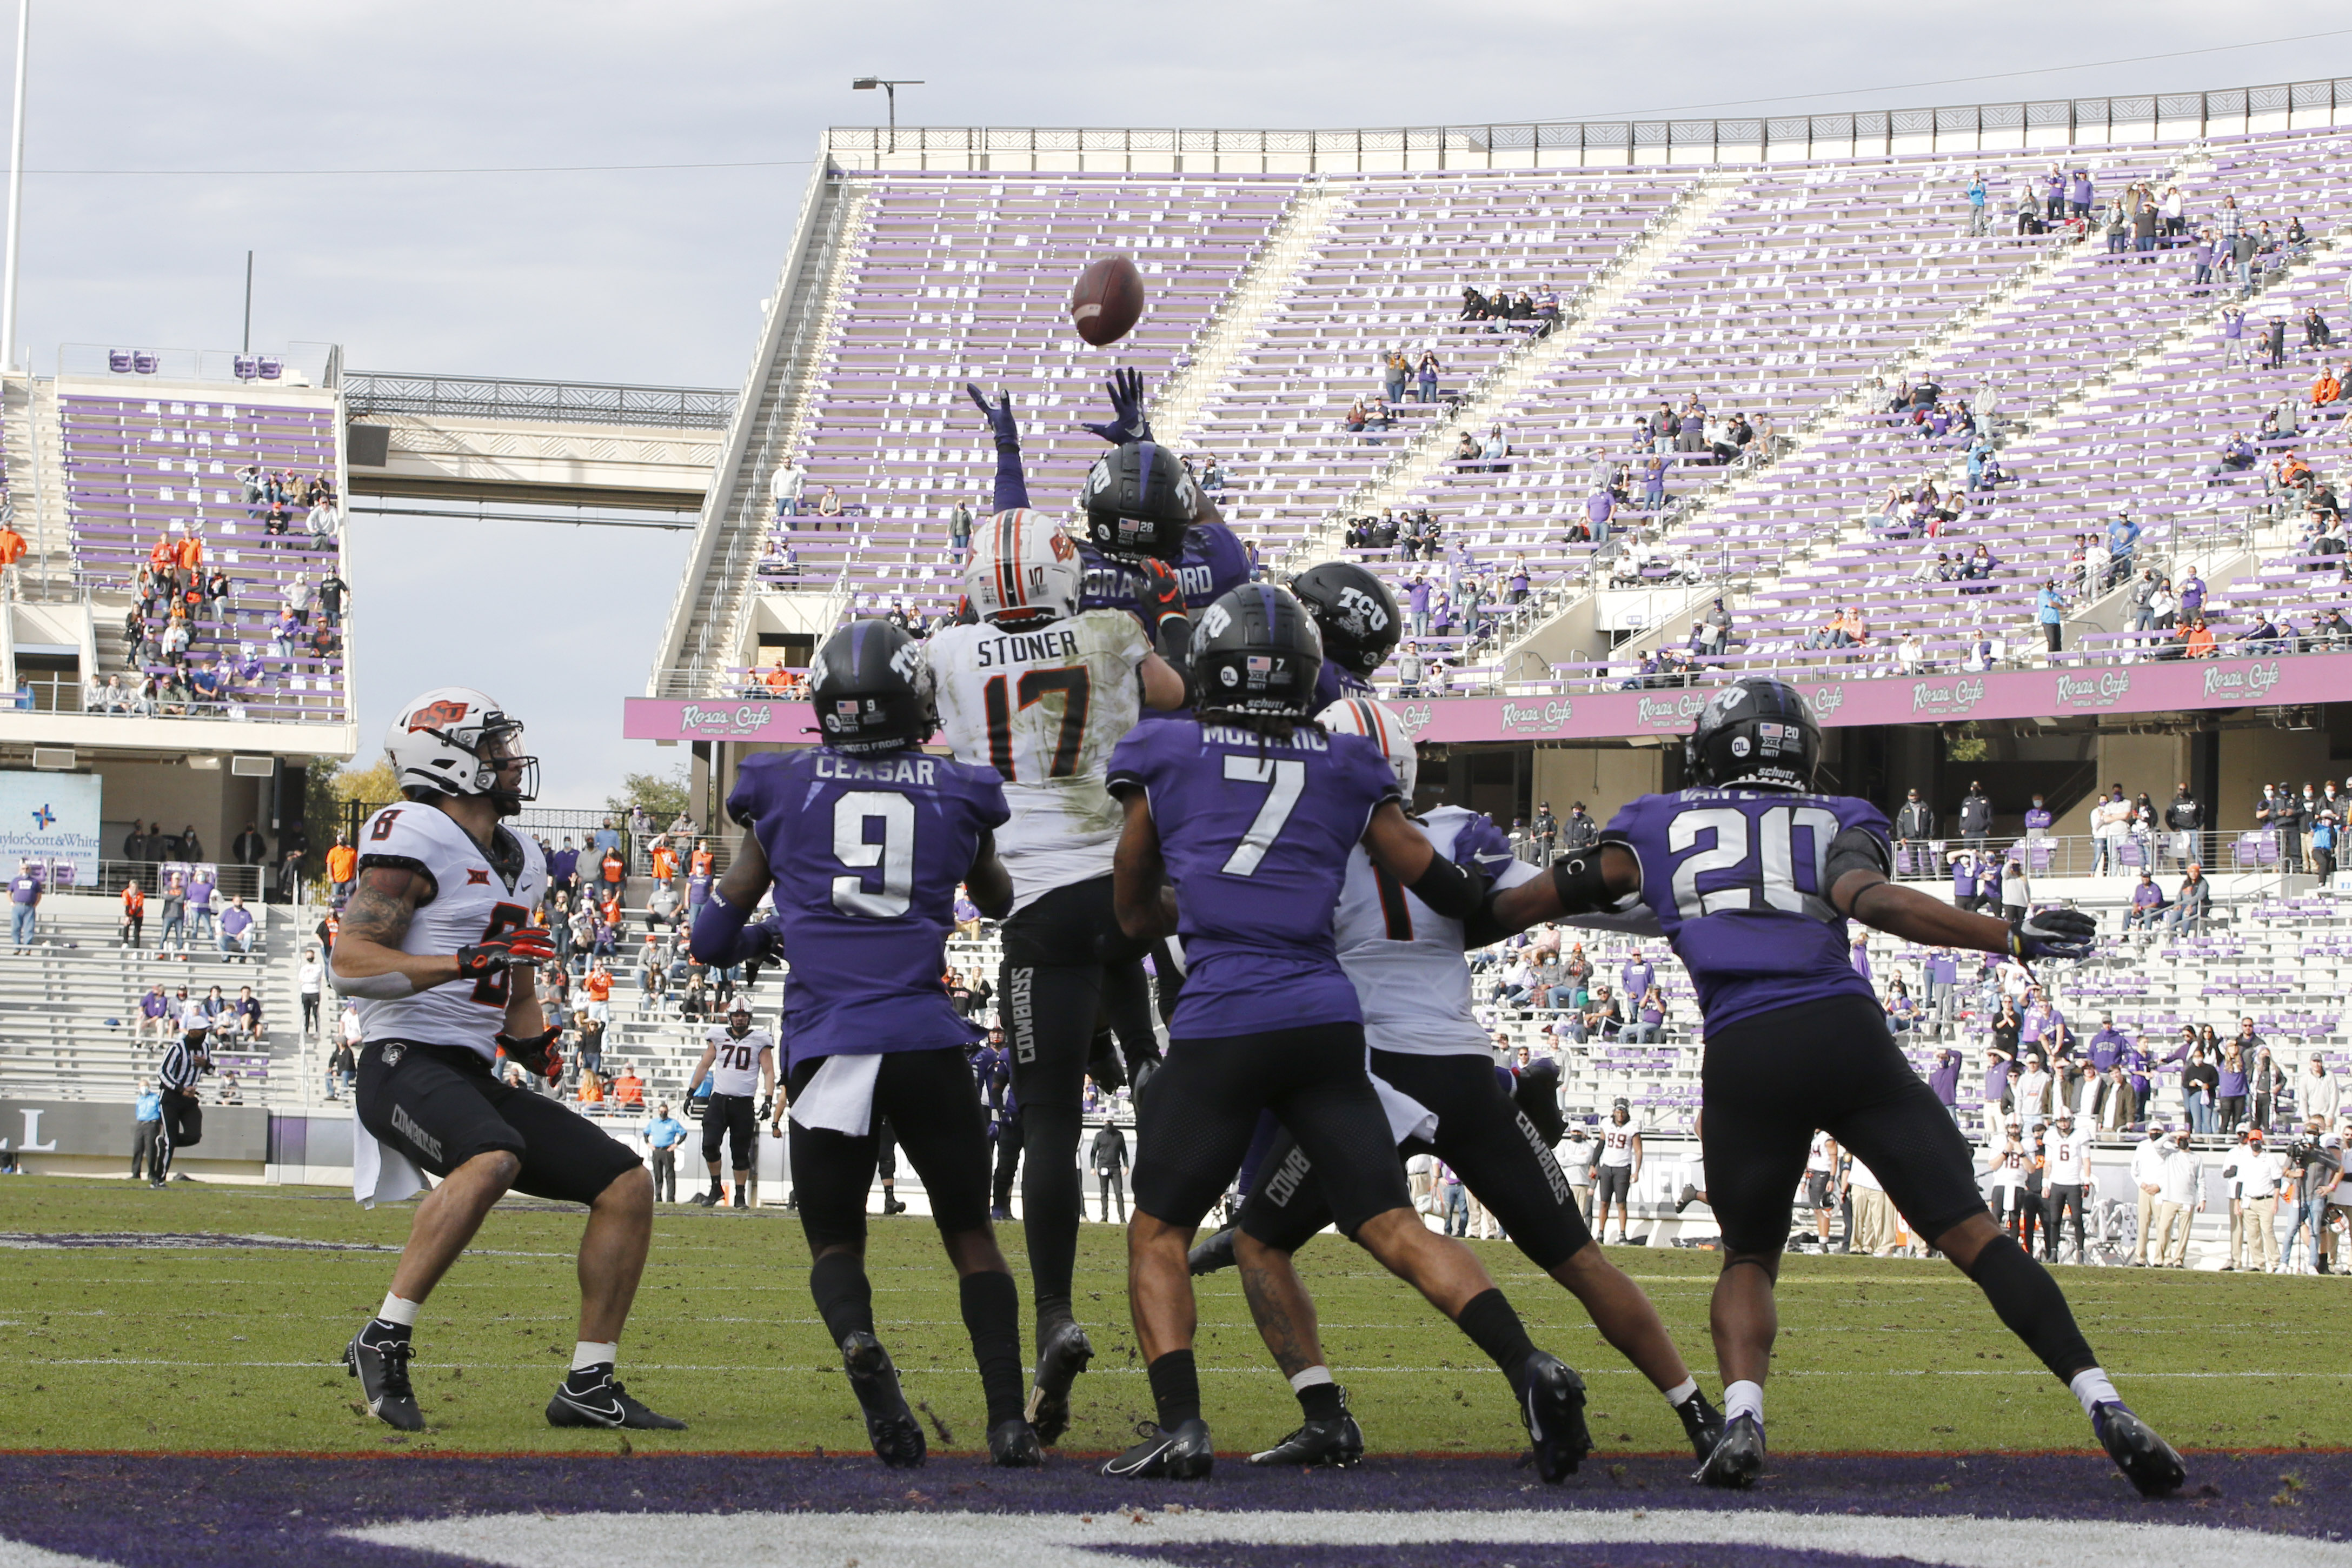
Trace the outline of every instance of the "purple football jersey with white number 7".
[[1331, 912], [1348, 851], [1397, 776], [1364, 736], [1265, 741], [1225, 724], [1145, 724], [1110, 752], [1110, 790], [1143, 790], [1176, 884], [1181, 1039], [1362, 1023]]

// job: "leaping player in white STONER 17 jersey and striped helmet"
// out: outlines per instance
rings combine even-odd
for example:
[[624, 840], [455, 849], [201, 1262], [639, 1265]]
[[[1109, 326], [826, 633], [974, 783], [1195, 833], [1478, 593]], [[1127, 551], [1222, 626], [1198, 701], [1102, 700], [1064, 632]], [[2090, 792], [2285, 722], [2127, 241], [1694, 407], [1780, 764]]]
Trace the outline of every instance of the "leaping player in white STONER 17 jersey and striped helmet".
[[[1120, 806], [1103, 788], [1103, 764], [1134, 729], [1138, 701], [1185, 701], [1183, 592], [1167, 564], [1148, 567], [1141, 621], [1124, 609], [1080, 611], [1084, 567], [1070, 536], [1042, 512], [997, 512], [964, 564], [978, 623], [934, 632], [924, 661], [955, 759], [995, 769], [1011, 809], [997, 830], [997, 856], [1014, 879], [997, 1009], [1021, 1105], [1007, 1126], [1021, 1138], [1021, 1225], [1037, 1293], [1028, 1420], [1044, 1443], [1070, 1425], [1070, 1382], [1094, 1356], [1070, 1312], [1070, 1272], [1084, 1215], [1077, 1138], [1096, 1013], [1105, 969], [1145, 950], [1120, 936], [1110, 910]], [[1141, 1027], [1150, 1027], [1148, 1016]], [[1011, 1166], [1004, 1171], [1009, 1180]]]

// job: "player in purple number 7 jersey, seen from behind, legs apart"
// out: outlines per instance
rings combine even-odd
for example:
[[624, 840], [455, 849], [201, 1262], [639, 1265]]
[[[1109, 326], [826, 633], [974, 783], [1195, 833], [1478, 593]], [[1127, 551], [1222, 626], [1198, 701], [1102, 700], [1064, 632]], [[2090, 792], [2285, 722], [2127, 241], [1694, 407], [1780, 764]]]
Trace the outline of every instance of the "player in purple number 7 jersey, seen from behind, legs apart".
[[1190, 1479], [1214, 1467], [1185, 1248], [1240, 1168], [1258, 1112], [1272, 1110], [1322, 1168], [1338, 1227], [1496, 1359], [1543, 1479], [1559, 1481], [1590, 1448], [1583, 1382], [1534, 1347], [1477, 1258], [1414, 1213], [1364, 1072], [1362, 1004], [1331, 940], [1359, 842], [1444, 914], [1477, 912], [1482, 882], [1404, 820], [1397, 778], [1371, 743], [1308, 717], [1319, 663], [1298, 599], [1244, 583], [1192, 635], [1197, 722], [1138, 724], [1110, 759], [1127, 811], [1112, 870], [1120, 924], [1136, 938], [1181, 931], [1192, 976], [1169, 1060], [1136, 1105], [1127, 1227], [1129, 1309], [1160, 1422], [1105, 1474]]

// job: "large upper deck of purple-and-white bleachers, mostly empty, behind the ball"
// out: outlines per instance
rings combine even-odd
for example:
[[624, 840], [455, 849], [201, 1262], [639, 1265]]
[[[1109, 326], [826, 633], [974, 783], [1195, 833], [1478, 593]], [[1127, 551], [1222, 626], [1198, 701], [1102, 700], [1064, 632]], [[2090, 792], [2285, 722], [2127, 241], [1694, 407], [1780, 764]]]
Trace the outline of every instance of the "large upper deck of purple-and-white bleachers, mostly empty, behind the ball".
[[[1359, 158], [1279, 174], [1268, 150], [1265, 172], [1244, 176], [1014, 174], [1002, 160], [946, 172], [936, 155], [920, 169], [889, 158], [833, 169], [840, 254], [795, 282], [826, 339], [800, 378], [800, 416], [741, 458], [743, 475], [797, 480], [795, 515], [717, 505], [706, 529], [764, 534], [743, 564], [755, 592], [837, 592], [818, 621], [891, 602], [936, 614], [955, 597], [948, 520], [985, 505], [993, 465], [962, 383], [1014, 390], [1033, 494], [1061, 508], [1096, 451], [1075, 421], [1101, 416], [1101, 374], [1124, 362], [1164, 386], [1162, 433], [1200, 465], [1216, 458], [1225, 520], [1263, 562], [1352, 552], [1399, 588], [1430, 578], [1439, 604], [1416, 642], [1454, 665], [1451, 691], [1621, 686], [1644, 654], [1679, 651], [1717, 595], [1729, 637], [1670, 661], [1670, 675], [1959, 668], [1985, 663], [1980, 642], [1992, 668], [2027, 663], [2049, 578], [2067, 588], [2070, 651], [2143, 656], [2114, 607], [2098, 607], [2105, 585], [2084, 585], [2070, 559], [2119, 510], [2140, 527], [2138, 567], [2194, 559], [2216, 590], [2244, 578], [2211, 599], [2227, 639], [2256, 599], [2291, 602], [2317, 569], [2293, 529], [2274, 527], [2263, 465], [2209, 482], [2220, 442], [2260, 437], [2265, 411], [2331, 362], [2331, 348], [2303, 348], [2303, 313], [2333, 313], [2340, 329], [2352, 275], [2336, 247], [2352, 221], [2352, 132], [2307, 118], [2256, 129], [2249, 106], [2227, 127], [2126, 129], [2100, 146], [1912, 153], [1889, 132], [1879, 153], [1849, 127], [1853, 155], [1776, 143], [1762, 162], [1663, 167], [1630, 153], [1592, 167], [1585, 150], [1562, 169], [1383, 174]], [[2053, 167], [2067, 200], [2082, 195], [2072, 176], [2089, 179], [2089, 214], [2020, 233], [2018, 195], [2032, 193], [2039, 223]], [[1969, 219], [1976, 179], [1985, 223]], [[2117, 254], [2105, 214], [2140, 193], [2166, 212], [2178, 197], [2180, 233], [2147, 252], [2126, 233]], [[2197, 244], [2225, 228], [2263, 249], [2199, 282]], [[1065, 289], [1110, 249], [1143, 263], [1152, 308], [1131, 341], [1091, 353], [1068, 331]], [[1463, 320], [1465, 289], [1524, 292], [1543, 320]], [[2225, 303], [2246, 308], [2249, 334], [2288, 317], [2284, 367], [2223, 362]], [[1385, 364], [1399, 350], [1404, 376]], [[1964, 423], [1924, 435], [1898, 418], [1903, 386], [1933, 388], [1943, 418], [1983, 407], [2002, 484], [1971, 489]], [[1731, 414], [1748, 421], [1733, 461], [1635, 425], [1693, 402], [1710, 435]], [[1359, 404], [1371, 418], [1350, 428]], [[2265, 458], [2300, 437], [2333, 477], [2333, 416], [2305, 407], [2300, 425], [2263, 440]], [[1484, 449], [1458, 456], [1463, 440]], [[1665, 470], [1653, 512], [1651, 458]], [[1879, 520], [1889, 491], [1907, 510], [1931, 480], [1938, 510], [1955, 512], [1933, 538]], [[1578, 524], [1609, 482], [1628, 494], [1597, 541]], [[1442, 531], [1435, 559], [1348, 548], [1352, 515], [1423, 508]], [[1976, 543], [1990, 576], [1933, 581], [1938, 550], [1964, 557]], [[1526, 592], [1512, 595], [1522, 571]], [[1590, 618], [1545, 625], [1621, 588], [1653, 592], [1604, 618], [1616, 637]], [[1472, 592], [1477, 628], [1463, 614]], [[1524, 604], [1498, 614], [1512, 597]], [[1870, 649], [1832, 661], [1804, 646], [1846, 604], [1870, 623]], [[1917, 642], [1900, 646], [1905, 635]], [[663, 693], [720, 696], [764, 661], [727, 646], [691, 677], [677, 663], [656, 677]]]

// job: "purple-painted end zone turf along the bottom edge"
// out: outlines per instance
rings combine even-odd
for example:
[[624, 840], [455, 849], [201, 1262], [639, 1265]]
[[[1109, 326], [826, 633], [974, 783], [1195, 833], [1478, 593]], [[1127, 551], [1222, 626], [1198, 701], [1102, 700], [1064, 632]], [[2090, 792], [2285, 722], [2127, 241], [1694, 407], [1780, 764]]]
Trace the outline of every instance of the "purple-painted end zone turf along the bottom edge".
[[[2288, 1476], [2293, 1481], [2288, 1481]], [[1541, 1486], [1510, 1460], [1374, 1458], [1348, 1474], [1263, 1472], [1218, 1462], [1207, 1483], [1103, 1481], [1094, 1465], [1049, 1460], [1044, 1472], [990, 1469], [941, 1458], [884, 1472], [873, 1458], [790, 1455], [0, 1455], [0, 1540], [106, 1563], [261, 1561], [315, 1566], [447, 1566], [440, 1554], [341, 1540], [336, 1530], [407, 1519], [482, 1514], [736, 1514], [736, 1512], [1014, 1512], [1115, 1514], [1122, 1505], [1209, 1507], [1223, 1521], [1249, 1509], [1783, 1509], [1795, 1514], [1992, 1516], [2145, 1521], [2352, 1537], [2352, 1453], [2190, 1455], [2190, 1488], [2143, 1502], [2098, 1455], [1790, 1455], [1752, 1493], [1689, 1481], [1689, 1460], [1595, 1455], [1566, 1486]], [[1743, 1563], [1867, 1563], [1851, 1552], [1743, 1552]], [[1101, 1549], [1108, 1563], [1230, 1568], [1463, 1568], [1552, 1563], [1724, 1561], [1715, 1549], [1658, 1544], [1552, 1547], [1150, 1547]], [[583, 1568], [593, 1559], [581, 1559]]]

